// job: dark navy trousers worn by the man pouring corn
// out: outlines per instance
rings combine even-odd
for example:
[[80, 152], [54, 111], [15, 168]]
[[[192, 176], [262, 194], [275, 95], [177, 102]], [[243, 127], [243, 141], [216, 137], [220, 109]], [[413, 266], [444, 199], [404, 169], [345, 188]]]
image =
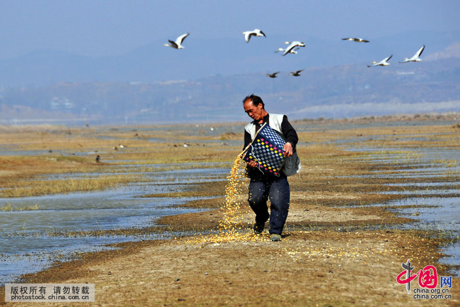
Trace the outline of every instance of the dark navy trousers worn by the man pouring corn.
[[[289, 211], [289, 183], [286, 176], [261, 180], [251, 179], [248, 202], [256, 213], [256, 222], [265, 223], [270, 217], [269, 233], [281, 234]], [[270, 214], [267, 200], [270, 199]]]

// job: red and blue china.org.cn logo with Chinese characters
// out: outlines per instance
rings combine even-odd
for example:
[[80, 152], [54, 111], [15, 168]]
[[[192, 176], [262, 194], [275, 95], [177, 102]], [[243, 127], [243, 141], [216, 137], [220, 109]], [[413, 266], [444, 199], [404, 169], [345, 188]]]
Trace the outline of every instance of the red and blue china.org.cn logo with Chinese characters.
[[[452, 276], [440, 276], [440, 288], [438, 287], [438, 271], [434, 266], [428, 265], [417, 273], [410, 274], [410, 271], [415, 269], [411, 267], [410, 259], [402, 264], [404, 271], [399, 273], [396, 281], [399, 284], [405, 284], [407, 293], [410, 294], [410, 282], [418, 276], [419, 287], [412, 290], [413, 298], [435, 299], [435, 298], [452, 298], [449, 294], [449, 289], [452, 288]], [[444, 289], [443, 289], [444, 288]]]

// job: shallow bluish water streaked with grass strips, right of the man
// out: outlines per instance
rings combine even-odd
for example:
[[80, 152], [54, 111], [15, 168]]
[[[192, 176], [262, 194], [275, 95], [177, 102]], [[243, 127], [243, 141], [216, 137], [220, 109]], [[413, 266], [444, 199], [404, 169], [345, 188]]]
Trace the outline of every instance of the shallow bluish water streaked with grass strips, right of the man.
[[[410, 139], [410, 138], [409, 138]], [[414, 140], [424, 140], [429, 142], [429, 137], [414, 137]], [[347, 146], [347, 142], [342, 142]], [[421, 229], [441, 231], [444, 235], [455, 238], [460, 234], [460, 190], [448, 188], [448, 186], [458, 186], [460, 183], [460, 156], [457, 150], [449, 148], [377, 148], [377, 147], [347, 147], [348, 150], [358, 150], [370, 153], [369, 156], [350, 159], [350, 161], [362, 160], [377, 165], [397, 164], [410, 166], [410, 168], [395, 170], [376, 170], [371, 175], [351, 176], [351, 178], [378, 178], [378, 179], [401, 179], [405, 178], [405, 183], [388, 183], [388, 187], [406, 187], [404, 191], [382, 191], [382, 194], [402, 194], [413, 195], [412, 198], [395, 200], [384, 204], [373, 204], [372, 206], [411, 206], [411, 208], [394, 208], [390, 211], [397, 212], [401, 216], [417, 220], [416, 223], [404, 225], [394, 225], [398, 229]], [[387, 152], [382, 154], [381, 150]], [[406, 153], [394, 154], [392, 151], [405, 151]], [[373, 155], [373, 152], [378, 152]], [[439, 163], [438, 161], [451, 160], [454, 163]], [[456, 178], [455, 182], [436, 181], [442, 178]], [[414, 179], [433, 178], [431, 182], [417, 183], [411, 182]], [[411, 187], [427, 187], [427, 189], [413, 189]], [[443, 197], [424, 197], [423, 195], [443, 194]], [[416, 206], [416, 207], [412, 207]], [[460, 244], [450, 244], [442, 248], [446, 257], [440, 262], [449, 265], [460, 264]], [[460, 277], [460, 271], [452, 270], [452, 276]]]

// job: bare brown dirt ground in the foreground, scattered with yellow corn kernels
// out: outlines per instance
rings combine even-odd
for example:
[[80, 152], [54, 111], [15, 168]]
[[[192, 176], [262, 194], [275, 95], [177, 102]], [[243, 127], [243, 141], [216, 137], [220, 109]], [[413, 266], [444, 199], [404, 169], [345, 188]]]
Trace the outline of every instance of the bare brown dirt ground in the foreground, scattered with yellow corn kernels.
[[[396, 282], [402, 259], [416, 270], [434, 264], [434, 240], [403, 232], [294, 231], [202, 243], [210, 236], [125, 244], [87, 255], [33, 282], [95, 283], [92, 306], [452, 306], [416, 300]], [[414, 238], [416, 238], [414, 240]], [[194, 244], [193, 242], [197, 242]], [[438, 270], [442, 270], [438, 267]], [[458, 279], [454, 279], [454, 286]], [[412, 288], [418, 287], [412, 282]], [[35, 306], [36, 303], [7, 303]], [[40, 303], [82, 306], [85, 303]]]

